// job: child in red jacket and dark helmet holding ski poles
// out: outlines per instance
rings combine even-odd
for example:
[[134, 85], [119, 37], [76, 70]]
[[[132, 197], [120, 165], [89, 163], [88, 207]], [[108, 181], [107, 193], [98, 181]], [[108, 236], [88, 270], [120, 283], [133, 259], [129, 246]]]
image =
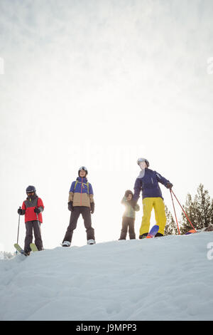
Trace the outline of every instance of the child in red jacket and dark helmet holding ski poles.
[[26, 237], [24, 241], [24, 252], [30, 254], [30, 244], [33, 242], [33, 232], [35, 245], [38, 250], [43, 250], [43, 242], [40, 234], [40, 224], [43, 222], [42, 212], [43, 201], [36, 195], [35, 187], [30, 185], [26, 188], [27, 198], [21, 208], [18, 208], [19, 215], [25, 215]]

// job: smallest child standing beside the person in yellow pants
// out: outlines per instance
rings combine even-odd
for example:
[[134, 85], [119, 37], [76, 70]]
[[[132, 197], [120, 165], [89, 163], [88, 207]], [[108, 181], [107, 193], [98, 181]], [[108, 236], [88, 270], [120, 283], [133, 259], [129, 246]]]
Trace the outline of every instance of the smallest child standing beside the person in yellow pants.
[[133, 198], [133, 192], [131, 190], [126, 190], [123, 199], [121, 200], [121, 204], [126, 206], [126, 210], [123, 215], [122, 220], [122, 229], [121, 229], [121, 236], [119, 239], [126, 239], [126, 234], [129, 229], [129, 239], [135, 239], [135, 218], [136, 218], [136, 211], [140, 210], [138, 204], [133, 208], [130, 204], [130, 200]]

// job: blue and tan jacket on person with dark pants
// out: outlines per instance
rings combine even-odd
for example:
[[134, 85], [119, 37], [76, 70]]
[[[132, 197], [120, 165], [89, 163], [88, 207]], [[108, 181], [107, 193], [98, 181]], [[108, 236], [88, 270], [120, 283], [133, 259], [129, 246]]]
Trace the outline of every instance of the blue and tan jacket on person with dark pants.
[[77, 180], [72, 182], [68, 202], [70, 201], [74, 207], [90, 207], [90, 203], [94, 202], [92, 185], [87, 181], [87, 178], [77, 177]]

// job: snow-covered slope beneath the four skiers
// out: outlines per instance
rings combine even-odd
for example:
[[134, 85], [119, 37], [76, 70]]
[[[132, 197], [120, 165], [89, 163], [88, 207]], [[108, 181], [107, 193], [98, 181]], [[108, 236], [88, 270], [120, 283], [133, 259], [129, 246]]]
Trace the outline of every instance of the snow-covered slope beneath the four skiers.
[[213, 320], [213, 232], [0, 261], [1, 320]]

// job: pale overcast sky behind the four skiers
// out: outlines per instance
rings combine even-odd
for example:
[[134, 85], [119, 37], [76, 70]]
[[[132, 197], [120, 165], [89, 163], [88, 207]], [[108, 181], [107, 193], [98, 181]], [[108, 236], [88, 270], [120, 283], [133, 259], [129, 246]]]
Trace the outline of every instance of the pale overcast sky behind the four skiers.
[[[45, 205], [44, 247], [62, 242], [82, 165], [97, 242], [119, 238], [138, 157], [182, 203], [200, 182], [213, 196], [212, 18], [212, 0], [1, 0], [1, 249], [13, 251], [28, 185]], [[85, 242], [80, 219], [72, 244]]]

